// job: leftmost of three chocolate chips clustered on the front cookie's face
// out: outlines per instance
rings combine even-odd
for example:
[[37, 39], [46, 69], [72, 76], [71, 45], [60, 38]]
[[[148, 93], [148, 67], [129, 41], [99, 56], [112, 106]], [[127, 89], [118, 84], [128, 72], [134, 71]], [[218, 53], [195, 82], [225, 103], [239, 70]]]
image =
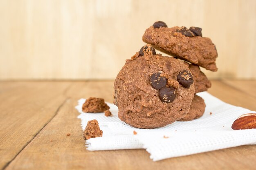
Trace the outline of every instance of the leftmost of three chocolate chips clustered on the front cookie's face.
[[167, 80], [165, 77], [160, 76], [161, 73], [153, 73], [149, 77], [149, 82], [151, 86], [157, 90], [161, 89], [162, 87], [165, 87], [167, 84]]

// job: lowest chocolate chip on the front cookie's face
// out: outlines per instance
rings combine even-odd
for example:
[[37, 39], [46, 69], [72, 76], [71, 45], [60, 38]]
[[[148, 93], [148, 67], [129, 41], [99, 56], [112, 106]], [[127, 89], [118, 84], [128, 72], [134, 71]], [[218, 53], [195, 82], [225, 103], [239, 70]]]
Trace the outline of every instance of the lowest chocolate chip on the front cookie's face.
[[162, 102], [171, 103], [176, 97], [173, 87], [163, 87], [159, 90], [159, 98]]

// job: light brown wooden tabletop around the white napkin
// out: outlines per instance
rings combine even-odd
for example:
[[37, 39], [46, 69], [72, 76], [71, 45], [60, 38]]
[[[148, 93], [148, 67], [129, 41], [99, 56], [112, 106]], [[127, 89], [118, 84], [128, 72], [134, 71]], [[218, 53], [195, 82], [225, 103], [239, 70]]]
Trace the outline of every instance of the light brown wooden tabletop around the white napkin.
[[[256, 81], [212, 84], [212, 95], [256, 110]], [[78, 99], [90, 96], [112, 102], [112, 86], [113, 81], [0, 82], [0, 169], [256, 169], [256, 145], [157, 162], [143, 149], [86, 150], [74, 106]]]

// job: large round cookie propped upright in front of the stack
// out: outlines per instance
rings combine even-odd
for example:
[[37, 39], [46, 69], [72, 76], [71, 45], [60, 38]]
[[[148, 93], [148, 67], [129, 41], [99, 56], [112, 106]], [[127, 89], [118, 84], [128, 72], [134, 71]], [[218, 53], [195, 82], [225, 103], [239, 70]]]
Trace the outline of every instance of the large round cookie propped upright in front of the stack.
[[177, 75], [184, 70], [189, 67], [182, 61], [161, 54], [136, 53], [126, 60], [114, 83], [119, 119], [136, 128], [157, 128], [185, 117], [195, 88], [177, 82]]

